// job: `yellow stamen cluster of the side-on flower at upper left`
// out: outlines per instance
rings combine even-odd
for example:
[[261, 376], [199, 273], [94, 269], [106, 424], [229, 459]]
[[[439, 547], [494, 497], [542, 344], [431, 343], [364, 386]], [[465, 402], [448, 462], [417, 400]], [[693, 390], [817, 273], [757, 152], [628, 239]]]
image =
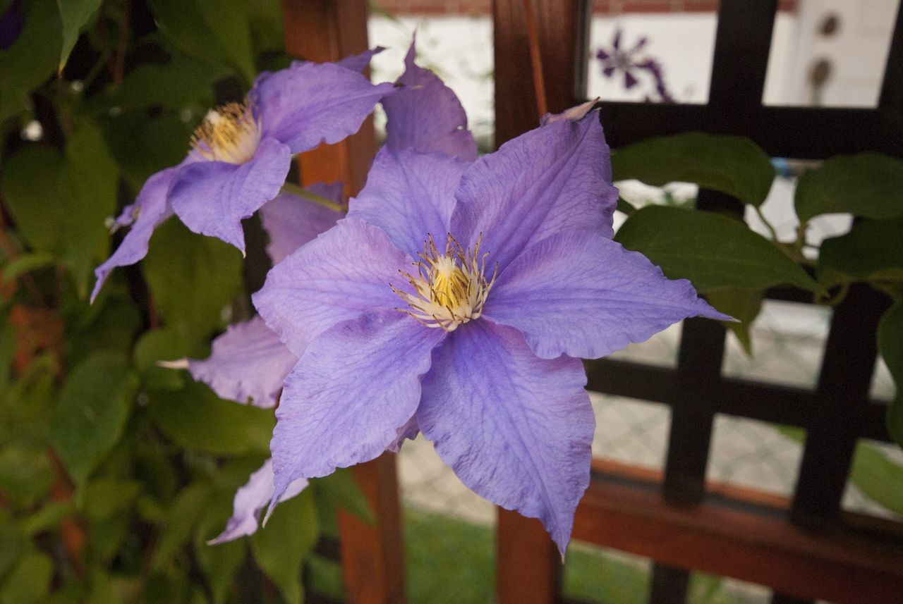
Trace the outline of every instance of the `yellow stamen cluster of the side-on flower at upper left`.
[[245, 163], [260, 142], [260, 124], [251, 105], [228, 103], [210, 109], [191, 136], [191, 149], [203, 160]]

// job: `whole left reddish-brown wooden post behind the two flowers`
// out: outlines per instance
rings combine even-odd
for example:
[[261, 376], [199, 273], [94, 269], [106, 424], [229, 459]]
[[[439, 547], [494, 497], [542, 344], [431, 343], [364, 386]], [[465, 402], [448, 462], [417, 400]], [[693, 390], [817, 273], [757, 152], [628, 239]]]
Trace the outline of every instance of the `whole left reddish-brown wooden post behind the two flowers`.
[[[285, 50], [298, 59], [332, 61], [368, 49], [367, 0], [283, 0]], [[303, 184], [345, 183], [347, 195], [363, 187], [376, 152], [372, 119], [345, 141], [301, 155]], [[396, 458], [386, 453], [354, 469], [377, 518], [368, 526], [339, 512], [342, 572], [349, 604], [403, 604], [405, 555]]]

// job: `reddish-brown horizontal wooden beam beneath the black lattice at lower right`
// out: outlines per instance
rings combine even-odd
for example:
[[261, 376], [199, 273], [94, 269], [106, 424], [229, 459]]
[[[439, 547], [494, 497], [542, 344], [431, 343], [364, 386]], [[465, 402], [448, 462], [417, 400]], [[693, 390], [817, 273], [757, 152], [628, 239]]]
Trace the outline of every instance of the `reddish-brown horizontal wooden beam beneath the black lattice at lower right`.
[[[655, 471], [625, 470], [621, 464], [598, 461], [594, 471], [574, 519], [577, 540], [758, 583], [800, 599], [835, 604], [903, 601], [898, 523], [877, 521], [885, 528], [877, 537], [876, 521], [854, 515], [858, 527], [844, 522], [831, 535], [816, 535], [787, 522], [786, 499], [710, 484], [709, 492], [719, 492], [733, 505], [706, 501], [675, 506], [649, 480]], [[758, 505], [760, 513], [750, 513], [749, 508]]]

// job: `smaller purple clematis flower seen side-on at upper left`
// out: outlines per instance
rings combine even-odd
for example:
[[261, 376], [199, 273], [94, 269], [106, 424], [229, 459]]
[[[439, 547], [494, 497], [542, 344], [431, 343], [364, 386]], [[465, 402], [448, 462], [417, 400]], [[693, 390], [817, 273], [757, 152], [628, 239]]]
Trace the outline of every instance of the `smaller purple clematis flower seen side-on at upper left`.
[[296, 61], [262, 73], [244, 103], [210, 110], [178, 166], [148, 178], [116, 226], [133, 224], [122, 244], [94, 271], [98, 295], [107, 275], [147, 254], [154, 228], [173, 213], [195, 233], [219, 237], [243, 253], [241, 220], [276, 197], [293, 153], [339, 142], [358, 131], [391, 83], [360, 73], [377, 50], [338, 63]]

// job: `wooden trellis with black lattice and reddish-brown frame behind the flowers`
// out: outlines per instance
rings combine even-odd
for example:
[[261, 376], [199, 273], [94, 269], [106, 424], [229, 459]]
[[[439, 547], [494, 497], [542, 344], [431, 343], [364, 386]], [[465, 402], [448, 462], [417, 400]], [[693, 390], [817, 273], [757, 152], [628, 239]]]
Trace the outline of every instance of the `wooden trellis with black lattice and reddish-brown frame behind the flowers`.
[[[331, 60], [366, 48], [365, 0], [284, 0], [287, 48], [304, 59]], [[700, 130], [748, 136], [775, 157], [824, 159], [883, 151], [903, 157], [903, 16], [898, 14], [878, 107], [763, 106], [762, 92], [777, 0], [721, 0], [706, 105], [604, 103], [612, 147], [649, 136]], [[545, 67], [548, 108], [585, 100], [588, 0], [532, 0]], [[524, 0], [495, 0], [496, 144], [535, 127], [535, 89]], [[525, 107], [529, 107], [526, 109]], [[365, 129], [366, 130], [366, 129]], [[303, 178], [362, 182], [372, 132], [302, 161]], [[306, 163], [305, 161], [306, 160]], [[354, 184], [357, 183], [357, 184]], [[740, 203], [702, 190], [701, 209], [740, 212]], [[805, 302], [789, 288], [772, 299]], [[876, 360], [875, 329], [888, 300], [853, 287], [833, 312], [815, 389], [721, 375], [724, 330], [684, 322], [674, 369], [636, 362], [587, 363], [593, 390], [664, 403], [671, 409], [665, 470], [593, 464], [577, 510], [574, 538], [655, 561], [649, 601], [683, 603], [690, 571], [752, 581], [775, 590], [774, 604], [827, 599], [903, 601], [903, 526], [843, 512], [841, 497], [859, 438], [889, 440], [885, 407], [868, 397]], [[793, 499], [705, 481], [716, 414], [801, 426], [803, 461]], [[394, 459], [358, 470], [376, 504], [377, 526], [346, 518], [340, 544], [349, 602], [404, 602], [404, 568]], [[561, 558], [535, 520], [499, 510], [498, 601], [561, 601]]]

